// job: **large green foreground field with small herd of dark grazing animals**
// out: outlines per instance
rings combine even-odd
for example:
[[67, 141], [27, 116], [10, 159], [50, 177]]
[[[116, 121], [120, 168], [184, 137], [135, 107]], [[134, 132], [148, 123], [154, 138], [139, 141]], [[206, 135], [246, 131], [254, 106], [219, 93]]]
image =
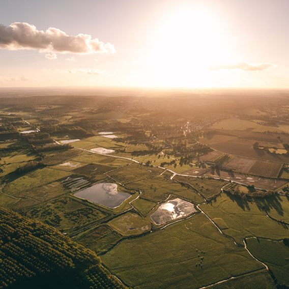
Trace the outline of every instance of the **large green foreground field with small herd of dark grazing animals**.
[[264, 268], [244, 248], [223, 237], [204, 214], [124, 240], [102, 261], [137, 288], [199, 288]]

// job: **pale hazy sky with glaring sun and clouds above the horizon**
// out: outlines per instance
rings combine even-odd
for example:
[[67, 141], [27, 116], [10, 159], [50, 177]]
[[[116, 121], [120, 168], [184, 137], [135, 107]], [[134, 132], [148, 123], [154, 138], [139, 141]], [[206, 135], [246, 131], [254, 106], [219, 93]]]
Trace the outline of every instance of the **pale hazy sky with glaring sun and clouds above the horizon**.
[[289, 88], [288, 0], [0, 0], [0, 88]]

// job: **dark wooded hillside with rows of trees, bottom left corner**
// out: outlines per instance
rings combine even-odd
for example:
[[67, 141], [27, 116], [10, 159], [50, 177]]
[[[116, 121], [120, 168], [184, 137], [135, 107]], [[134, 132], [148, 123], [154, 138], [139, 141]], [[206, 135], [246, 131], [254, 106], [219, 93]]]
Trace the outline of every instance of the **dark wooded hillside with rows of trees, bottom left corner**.
[[1, 288], [124, 288], [90, 249], [5, 209], [0, 209], [0, 246]]

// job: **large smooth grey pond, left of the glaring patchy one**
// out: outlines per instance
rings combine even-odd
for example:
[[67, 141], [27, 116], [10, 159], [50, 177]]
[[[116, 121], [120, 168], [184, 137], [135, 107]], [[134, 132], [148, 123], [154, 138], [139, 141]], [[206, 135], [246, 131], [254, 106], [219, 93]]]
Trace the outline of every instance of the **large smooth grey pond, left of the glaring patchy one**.
[[118, 185], [114, 183], [98, 183], [74, 195], [111, 209], [119, 207], [130, 197], [129, 193], [118, 191]]

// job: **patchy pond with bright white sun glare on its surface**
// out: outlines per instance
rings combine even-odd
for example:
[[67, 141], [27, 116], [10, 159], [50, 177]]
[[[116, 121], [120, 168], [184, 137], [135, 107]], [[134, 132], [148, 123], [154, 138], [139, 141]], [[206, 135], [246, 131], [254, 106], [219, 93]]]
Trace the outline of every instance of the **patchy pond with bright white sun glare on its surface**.
[[171, 220], [186, 217], [196, 212], [194, 205], [181, 198], [175, 198], [159, 206], [151, 215], [151, 220], [156, 225], [163, 225]]

